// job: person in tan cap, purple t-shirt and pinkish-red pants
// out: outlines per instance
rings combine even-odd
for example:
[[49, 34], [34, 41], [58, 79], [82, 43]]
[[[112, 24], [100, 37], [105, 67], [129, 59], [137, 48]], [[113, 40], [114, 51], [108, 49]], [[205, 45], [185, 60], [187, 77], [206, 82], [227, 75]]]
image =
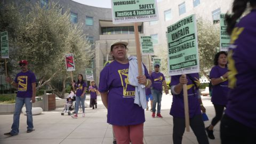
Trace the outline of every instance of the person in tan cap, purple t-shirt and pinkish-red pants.
[[[110, 54], [114, 61], [100, 73], [99, 91], [103, 105], [108, 109], [107, 123], [113, 125], [118, 144], [143, 143], [145, 112], [134, 103], [135, 86], [129, 82], [129, 59], [126, 58], [127, 42], [115, 41]], [[138, 83], [151, 85], [146, 67], [145, 75], [138, 76]], [[138, 69], [134, 69], [138, 70]], [[145, 97], [145, 95], [143, 95]]]

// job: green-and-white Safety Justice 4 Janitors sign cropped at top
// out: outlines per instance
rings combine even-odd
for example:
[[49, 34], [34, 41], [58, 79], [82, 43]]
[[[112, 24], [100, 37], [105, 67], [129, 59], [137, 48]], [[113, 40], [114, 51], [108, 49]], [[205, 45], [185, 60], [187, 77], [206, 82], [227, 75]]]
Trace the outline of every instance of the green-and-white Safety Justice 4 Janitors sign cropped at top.
[[113, 23], [158, 20], [156, 0], [111, 0]]

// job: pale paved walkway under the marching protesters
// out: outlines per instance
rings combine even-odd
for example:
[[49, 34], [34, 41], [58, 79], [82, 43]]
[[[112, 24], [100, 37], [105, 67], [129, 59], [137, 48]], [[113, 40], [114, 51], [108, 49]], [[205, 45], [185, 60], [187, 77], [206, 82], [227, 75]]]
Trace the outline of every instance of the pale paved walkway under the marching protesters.
[[[206, 108], [206, 114], [209, 119], [215, 115], [210, 97], [203, 97], [203, 103]], [[89, 98], [86, 98], [89, 103]], [[172, 103], [172, 96], [163, 94], [161, 114], [163, 118], [151, 118], [149, 110], [145, 111], [146, 122], [144, 124], [144, 143], [173, 143], [172, 142], [172, 116], [169, 115]], [[78, 144], [78, 143], [112, 143], [113, 134], [111, 125], [107, 124], [107, 110], [102, 105], [98, 97], [98, 108], [85, 108], [85, 117], [79, 113], [77, 119], [68, 115], [61, 116], [62, 108], [54, 111], [44, 111], [41, 115], [35, 115], [35, 131], [26, 133], [26, 116], [20, 115], [20, 133], [14, 137], [3, 135], [10, 132], [13, 121], [13, 115], [0, 115], [0, 143], [18, 143], [18, 144]], [[205, 122], [209, 125], [210, 121]], [[192, 130], [185, 132], [182, 143], [197, 143]], [[209, 140], [211, 144], [220, 143], [219, 123], [214, 127], [215, 140]]]

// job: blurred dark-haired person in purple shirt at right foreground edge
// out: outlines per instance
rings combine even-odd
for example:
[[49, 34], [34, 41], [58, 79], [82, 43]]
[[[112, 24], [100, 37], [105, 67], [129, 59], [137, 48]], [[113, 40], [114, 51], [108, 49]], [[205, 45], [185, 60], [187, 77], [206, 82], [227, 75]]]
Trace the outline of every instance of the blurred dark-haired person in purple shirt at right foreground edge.
[[[237, 23], [249, 7], [251, 12]], [[231, 35], [230, 91], [220, 125], [221, 143], [256, 143], [256, 0], [235, 0], [232, 14], [226, 20]]]

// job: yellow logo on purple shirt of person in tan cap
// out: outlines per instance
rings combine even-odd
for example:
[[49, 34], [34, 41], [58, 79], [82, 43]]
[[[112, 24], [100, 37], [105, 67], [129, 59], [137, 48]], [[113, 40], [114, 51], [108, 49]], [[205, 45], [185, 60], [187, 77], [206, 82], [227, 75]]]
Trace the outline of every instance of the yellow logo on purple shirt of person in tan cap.
[[124, 97], [134, 97], [135, 96], [135, 91], [128, 91], [127, 90], [127, 87], [129, 85], [128, 71], [129, 71], [129, 69], [119, 69], [118, 74], [120, 76], [121, 83], [122, 83], [122, 86], [123, 86], [123, 95], [124, 95]]

